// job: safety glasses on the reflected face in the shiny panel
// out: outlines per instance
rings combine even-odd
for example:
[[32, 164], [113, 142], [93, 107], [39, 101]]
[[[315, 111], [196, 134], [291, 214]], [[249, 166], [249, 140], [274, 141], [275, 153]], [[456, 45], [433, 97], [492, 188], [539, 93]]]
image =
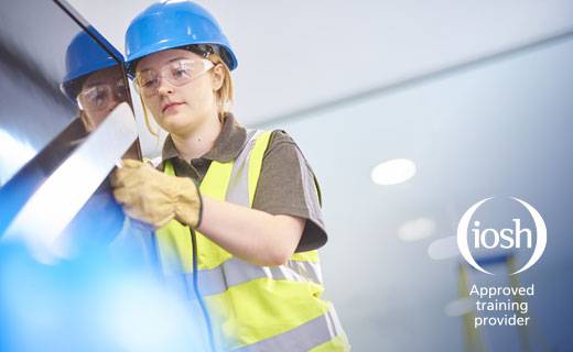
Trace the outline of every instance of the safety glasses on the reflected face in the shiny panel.
[[83, 89], [77, 96], [79, 108], [84, 111], [101, 111], [126, 101], [123, 79], [117, 84], [99, 84]]

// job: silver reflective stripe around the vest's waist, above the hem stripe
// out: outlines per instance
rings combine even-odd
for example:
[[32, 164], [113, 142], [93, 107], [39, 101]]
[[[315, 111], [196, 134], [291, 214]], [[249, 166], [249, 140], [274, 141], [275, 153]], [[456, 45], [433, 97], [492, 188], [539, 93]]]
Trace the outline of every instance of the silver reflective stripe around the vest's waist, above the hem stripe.
[[[320, 275], [318, 263], [289, 261], [281, 266], [258, 266], [237, 257], [233, 257], [212, 270], [198, 272], [199, 289], [203, 296], [212, 296], [226, 292], [231, 286], [237, 286], [257, 278], [288, 279], [292, 282], [312, 282], [323, 285]], [[193, 297], [193, 273], [185, 274], [185, 280]]]

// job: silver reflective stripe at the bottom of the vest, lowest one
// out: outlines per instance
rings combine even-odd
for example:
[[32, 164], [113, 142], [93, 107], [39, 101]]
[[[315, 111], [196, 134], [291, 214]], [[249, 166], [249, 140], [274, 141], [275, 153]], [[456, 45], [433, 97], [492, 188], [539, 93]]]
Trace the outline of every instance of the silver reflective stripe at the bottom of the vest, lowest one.
[[318, 318], [307, 321], [292, 330], [267, 340], [234, 350], [240, 352], [289, 351], [303, 352], [344, 334], [336, 311], [331, 310]]

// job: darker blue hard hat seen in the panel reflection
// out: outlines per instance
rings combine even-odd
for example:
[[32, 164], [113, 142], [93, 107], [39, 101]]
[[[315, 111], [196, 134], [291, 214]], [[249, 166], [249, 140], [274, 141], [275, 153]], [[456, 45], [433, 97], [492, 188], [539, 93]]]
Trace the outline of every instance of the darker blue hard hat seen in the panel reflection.
[[[94, 37], [105, 44], [107, 51]], [[62, 90], [75, 101], [79, 92], [78, 79], [99, 69], [119, 65], [122, 58], [121, 53], [115, 50], [94, 28], [90, 26], [87, 31], [79, 32], [74, 36], [66, 51], [66, 76], [62, 82]]]

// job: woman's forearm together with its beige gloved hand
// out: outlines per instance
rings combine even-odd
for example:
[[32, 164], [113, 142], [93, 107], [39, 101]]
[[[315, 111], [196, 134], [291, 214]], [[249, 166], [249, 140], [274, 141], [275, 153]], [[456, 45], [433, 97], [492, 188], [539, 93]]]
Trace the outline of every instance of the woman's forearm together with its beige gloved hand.
[[123, 161], [111, 184], [113, 196], [130, 217], [161, 228], [174, 217], [195, 227], [202, 215], [198, 231], [231, 254], [264, 266], [289, 260], [306, 221], [199, 197], [190, 178], [169, 176], [137, 161]]

